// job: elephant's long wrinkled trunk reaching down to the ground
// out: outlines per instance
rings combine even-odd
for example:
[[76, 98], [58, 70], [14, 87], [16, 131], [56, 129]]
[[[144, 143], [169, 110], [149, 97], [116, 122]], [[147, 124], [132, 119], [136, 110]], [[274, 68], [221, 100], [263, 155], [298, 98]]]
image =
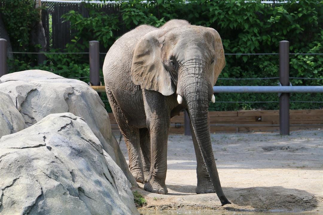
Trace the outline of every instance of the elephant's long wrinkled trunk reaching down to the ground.
[[205, 161], [214, 191], [223, 206], [225, 204], [231, 204], [231, 202], [227, 200], [222, 191], [211, 145], [208, 107], [213, 95], [213, 89], [210, 89], [209, 85], [209, 83], [205, 82], [191, 83], [190, 86], [185, 87], [186, 89], [182, 94], [184, 95], [187, 104], [193, 131], [201, 150], [203, 160]]

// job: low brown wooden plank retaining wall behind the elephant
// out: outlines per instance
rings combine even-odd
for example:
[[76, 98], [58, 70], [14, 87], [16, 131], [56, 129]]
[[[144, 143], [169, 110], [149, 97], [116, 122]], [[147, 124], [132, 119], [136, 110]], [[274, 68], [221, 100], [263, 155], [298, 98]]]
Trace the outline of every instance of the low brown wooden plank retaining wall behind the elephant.
[[[290, 110], [290, 130], [323, 129], [323, 110]], [[279, 111], [212, 111], [211, 132], [279, 132]], [[112, 132], [120, 132], [109, 113]], [[306, 126], [315, 124], [317, 126]], [[216, 125], [216, 126], [215, 126]], [[223, 126], [222, 126], [223, 125]], [[295, 126], [294, 126], [295, 125]], [[184, 114], [171, 119], [170, 133], [184, 133]]]

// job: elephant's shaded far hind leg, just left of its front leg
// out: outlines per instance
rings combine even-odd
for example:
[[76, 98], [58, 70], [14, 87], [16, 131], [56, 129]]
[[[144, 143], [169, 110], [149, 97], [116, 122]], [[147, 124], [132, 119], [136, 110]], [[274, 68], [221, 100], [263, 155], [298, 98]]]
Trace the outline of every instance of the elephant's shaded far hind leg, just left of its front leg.
[[145, 182], [149, 180], [150, 172], [150, 134], [148, 128], [139, 129], [140, 135], [140, 148], [141, 148], [141, 161], [143, 167], [143, 174], [145, 176]]

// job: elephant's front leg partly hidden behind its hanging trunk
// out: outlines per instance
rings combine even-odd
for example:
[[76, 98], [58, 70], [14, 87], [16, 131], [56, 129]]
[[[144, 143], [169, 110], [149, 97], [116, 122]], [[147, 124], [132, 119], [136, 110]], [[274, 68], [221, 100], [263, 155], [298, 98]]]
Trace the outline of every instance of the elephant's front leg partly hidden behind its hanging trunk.
[[195, 192], [197, 194], [214, 193], [214, 188], [211, 183], [209, 173], [207, 172], [205, 162], [201, 154], [201, 150], [198, 146], [198, 143], [192, 128], [192, 124], [191, 124], [191, 133], [192, 133], [192, 140], [193, 140], [196, 162], [197, 162], [197, 167], [196, 167], [197, 187], [195, 189]]

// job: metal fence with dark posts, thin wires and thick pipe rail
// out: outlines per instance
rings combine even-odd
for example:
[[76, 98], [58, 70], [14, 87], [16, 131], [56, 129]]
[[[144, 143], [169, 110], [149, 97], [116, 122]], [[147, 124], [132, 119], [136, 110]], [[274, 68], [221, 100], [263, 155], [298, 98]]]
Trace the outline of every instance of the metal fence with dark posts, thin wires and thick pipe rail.
[[[27, 52], [13, 52], [17, 54], [30, 54]], [[31, 54], [89, 54], [89, 77], [75, 77], [78, 79], [89, 78], [89, 84], [98, 93], [105, 93], [105, 86], [100, 86], [99, 76], [99, 42], [89, 42], [89, 52], [83, 53], [31, 53]], [[250, 55], [254, 53], [249, 53]], [[262, 53], [266, 54], [266, 53]], [[214, 93], [279, 93], [279, 131], [282, 135], [289, 135], [289, 102], [309, 102], [309, 101], [289, 101], [289, 93], [323, 93], [323, 86], [291, 86], [289, 78], [292, 79], [308, 79], [308, 80], [323, 80], [320, 78], [306, 77], [289, 77], [289, 55], [290, 54], [307, 54], [307, 53], [289, 53], [289, 42], [279, 42], [279, 77], [267, 78], [219, 78], [219, 80], [265, 80], [279, 79], [280, 86], [214, 86]], [[323, 54], [323, 53], [309, 53]], [[233, 54], [226, 54], [233, 55]], [[242, 55], [242, 54], [235, 54]], [[7, 42], [5, 39], [0, 39], [0, 77], [7, 73]], [[257, 102], [231, 102], [217, 101], [218, 103], [276, 103], [278, 101], [257, 101]], [[313, 102], [323, 103], [323, 102]], [[190, 135], [190, 122], [187, 113], [184, 114], [184, 131], [186, 135]], [[224, 124], [221, 124], [223, 126]], [[218, 126], [218, 125], [214, 125]], [[219, 125], [220, 126], [220, 125]], [[236, 125], [230, 125], [236, 126]]]

